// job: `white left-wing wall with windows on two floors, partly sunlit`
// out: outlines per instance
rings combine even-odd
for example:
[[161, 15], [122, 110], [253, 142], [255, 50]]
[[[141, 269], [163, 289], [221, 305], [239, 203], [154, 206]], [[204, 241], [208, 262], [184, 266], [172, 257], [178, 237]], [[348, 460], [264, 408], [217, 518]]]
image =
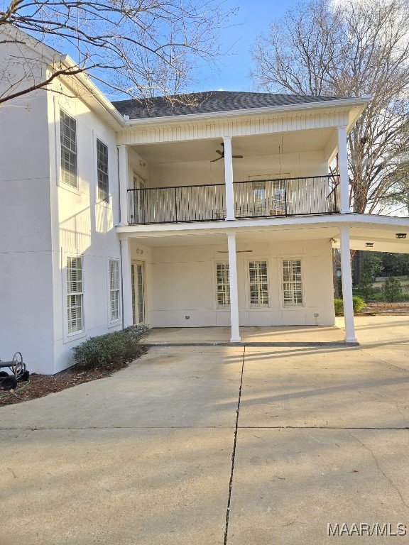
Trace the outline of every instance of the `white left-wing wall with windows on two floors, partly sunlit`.
[[[67, 92], [67, 94], [69, 94]], [[78, 189], [60, 180], [60, 109], [77, 121]], [[116, 134], [83, 101], [48, 95], [50, 187], [53, 208], [53, 373], [72, 365], [72, 347], [88, 336], [121, 329], [109, 322], [109, 258], [119, 259], [119, 180]], [[97, 199], [97, 138], [108, 147], [109, 202]], [[83, 256], [84, 329], [67, 334], [67, 255]]]

